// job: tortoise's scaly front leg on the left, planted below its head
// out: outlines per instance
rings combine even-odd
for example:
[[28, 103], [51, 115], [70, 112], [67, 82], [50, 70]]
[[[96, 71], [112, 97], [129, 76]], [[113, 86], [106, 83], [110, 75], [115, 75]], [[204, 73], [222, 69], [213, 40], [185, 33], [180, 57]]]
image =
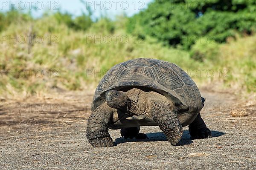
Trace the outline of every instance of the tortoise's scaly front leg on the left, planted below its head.
[[112, 147], [113, 139], [108, 133], [108, 121], [113, 109], [106, 103], [97, 107], [87, 123], [87, 139], [93, 147]]

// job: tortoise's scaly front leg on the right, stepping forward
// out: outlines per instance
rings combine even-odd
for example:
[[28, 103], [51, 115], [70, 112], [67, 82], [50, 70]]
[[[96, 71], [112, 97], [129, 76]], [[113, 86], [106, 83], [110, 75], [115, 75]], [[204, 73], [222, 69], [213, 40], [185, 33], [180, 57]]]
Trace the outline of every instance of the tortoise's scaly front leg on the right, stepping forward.
[[162, 101], [153, 101], [151, 115], [172, 145], [176, 145], [183, 134], [182, 125], [174, 113], [175, 110]]

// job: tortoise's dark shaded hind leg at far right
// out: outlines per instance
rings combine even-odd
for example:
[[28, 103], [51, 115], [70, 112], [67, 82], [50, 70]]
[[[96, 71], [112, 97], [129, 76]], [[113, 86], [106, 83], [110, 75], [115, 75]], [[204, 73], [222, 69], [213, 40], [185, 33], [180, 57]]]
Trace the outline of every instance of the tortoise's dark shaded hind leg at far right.
[[211, 131], [206, 127], [204, 120], [201, 118], [200, 113], [198, 113], [195, 120], [189, 124], [189, 133], [194, 139], [203, 139], [212, 137]]

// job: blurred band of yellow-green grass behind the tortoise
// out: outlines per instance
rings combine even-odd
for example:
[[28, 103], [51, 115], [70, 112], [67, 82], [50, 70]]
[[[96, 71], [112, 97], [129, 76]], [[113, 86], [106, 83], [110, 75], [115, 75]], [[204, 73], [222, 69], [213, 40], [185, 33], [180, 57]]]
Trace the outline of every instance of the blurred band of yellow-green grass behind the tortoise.
[[[199, 85], [220, 82], [223, 88], [256, 92], [256, 36], [237, 38], [222, 45], [198, 43], [191, 51], [183, 51], [165, 47], [152, 37], [145, 40], [133, 37], [125, 32], [125, 22], [125, 18], [117, 21], [103, 18], [85, 31], [69, 28], [53, 16], [10, 24], [1, 35], [41, 35], [44, 41], [36, 43], [33, 40], [30, 53], [28, 42], [3, 41], [0, 46], [0, 69], [3, 70], [0, 94], [27, 97], [51, 92], [52, 89], [91, 89], [112, 66], [133, 58], [157, 58], [176, 63], [187, 70]], [[115, 42], [114, 36], [117, 35]], [[101, 39], [106, 41], [111, 37], [112, 41], [101, 43], [96, 40], [95, 43], [95, 36], [102, 36]], [[122, 42], [121, 36], [128, 37], [128, 42]], [[39, 70], [38, 73], [43, 71], [44, 75], [35, 76], [34, 72], [25, 76], [3, 73], [5, 70], [15, 72], [15, 69]], [[202, 69], [204, 71], [200, 75]], [[209, 69], [214, 72], [213, 77], [207, 77]]]

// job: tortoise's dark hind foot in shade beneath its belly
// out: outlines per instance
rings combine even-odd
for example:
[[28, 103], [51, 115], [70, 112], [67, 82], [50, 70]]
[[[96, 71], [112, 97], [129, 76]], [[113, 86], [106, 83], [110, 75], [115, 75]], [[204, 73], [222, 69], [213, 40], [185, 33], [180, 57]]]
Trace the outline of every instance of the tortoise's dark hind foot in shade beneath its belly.
[[126, 128], [121, 128], [120, 133], [121, 136], [124, 137], [125, 139], [127, 138], [136, 138], [136, 139], [146, 139], [148, 138], [147, 135], [144, 133], [139, 133], [140, 132], [140, 127], [126, 127]]

